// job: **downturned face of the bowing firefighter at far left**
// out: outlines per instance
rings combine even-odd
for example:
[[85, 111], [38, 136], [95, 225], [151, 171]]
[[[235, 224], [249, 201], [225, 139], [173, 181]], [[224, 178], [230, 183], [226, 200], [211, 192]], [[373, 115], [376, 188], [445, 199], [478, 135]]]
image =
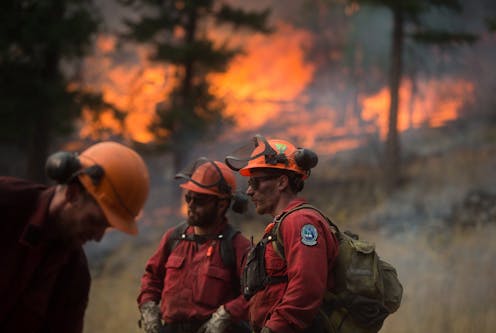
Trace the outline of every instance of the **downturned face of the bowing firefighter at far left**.
[[79, 191], [59, 215], [59, 229], [65, 243], [83, 245], [99, 242], [110, 227], [103, 211], [87, 193]]

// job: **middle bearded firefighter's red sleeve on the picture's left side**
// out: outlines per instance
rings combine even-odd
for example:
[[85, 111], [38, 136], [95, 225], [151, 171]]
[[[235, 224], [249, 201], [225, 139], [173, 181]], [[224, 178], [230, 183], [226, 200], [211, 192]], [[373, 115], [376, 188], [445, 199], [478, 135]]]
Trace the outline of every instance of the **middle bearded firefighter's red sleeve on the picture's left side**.
[[148, 259], [145, 273], [141, 278], [141, 289], [138, 295], [138, 305], [148, 301], [160, 303], [162, 288], [164, 286], [165, 266], [164, 263], [169, 256], [166, 249], [167, 240], [173, 229], [164, 234], [155, 253]]

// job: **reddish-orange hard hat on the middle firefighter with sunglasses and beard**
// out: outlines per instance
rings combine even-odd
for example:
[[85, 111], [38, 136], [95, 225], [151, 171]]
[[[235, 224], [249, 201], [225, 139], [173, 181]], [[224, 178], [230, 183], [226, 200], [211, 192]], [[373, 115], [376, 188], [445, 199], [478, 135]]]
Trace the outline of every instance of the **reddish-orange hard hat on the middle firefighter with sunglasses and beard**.
[[180, 186], [197, 193], [229, 198], [236, 191], [234, 172], [222, 162], [200, 158], [176, 175], [188, 181]]

